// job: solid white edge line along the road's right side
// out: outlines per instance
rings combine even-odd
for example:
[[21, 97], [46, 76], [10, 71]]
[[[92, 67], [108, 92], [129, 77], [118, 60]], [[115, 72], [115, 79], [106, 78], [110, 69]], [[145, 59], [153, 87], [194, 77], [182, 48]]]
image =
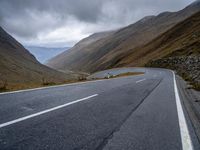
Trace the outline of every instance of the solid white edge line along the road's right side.
[[188, 126], [187, 126], [187, 123], [186, 123], [186, 119], [185, 119], [185, 116], [184, 116], [181, 100], [180, 100], [179, 93], [178, 93], [176, 76], [175, 76], [175, 73], [173, 71], [172, 71], [172, 73], [173, 73], [173, 79], [174, 79], [174, 92], [175, 92], [179, 127], [180, 127], [180, 133], [181, 133], [182, 149], [183, 150], [193, 150], [191, 137], [190, 137], [190, 134], [189, 134]]

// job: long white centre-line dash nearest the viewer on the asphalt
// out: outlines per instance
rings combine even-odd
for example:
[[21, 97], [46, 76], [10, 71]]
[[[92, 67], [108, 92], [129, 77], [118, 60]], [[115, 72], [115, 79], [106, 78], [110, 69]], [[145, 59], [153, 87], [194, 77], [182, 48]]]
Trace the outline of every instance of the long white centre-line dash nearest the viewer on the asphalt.
[[48, 112], [51, 112], [51, 111], [54, 111], [54, 110], [57, 110], [57, 109], [61, 109], [63, 107], [66, 107], [66, 106], [69, 106], [69, 105], [72, 105], [72, 104], [75, 104], [75, 103], [78, 103], [78, 102], [81, 102], [81, 101], [85, 101], [85, 100], [88, 100], [88, 99], [90, 99], [92, 97], [96, 97], [96, 96], [98, 96], [98, 94], [94, 94], [94, 95], [91, 95], [91, 96], [88, 96], [88, 97], [85, 97], [85, 98], [81, 98], [81, 99], [78, 99], [78, 100], [63, 104], [63, 105], [59, 105], [59, 106], [44, 110], [44, 111], [40, 111], [40, 112], [32, 114], [32, 115], [28, 115], [28, 116], [18, 118], [18, 119], [15, 119], [15, 120], [12, 120], [12, 121], [9, 121], [9, 122], [6, 122], [6, 123], [2, 123], [2, 124], [0, 124], [0, 128], [3, 128], [3, 127], [6, 127], [6, 126], [9, 126], [9, 125], [12, 125], [12, 124], [33, 118], [33, 117], [36, 117], [36, 116], [39, 116], [39, 115], [42, 115], [42, 114], [46, 114]]

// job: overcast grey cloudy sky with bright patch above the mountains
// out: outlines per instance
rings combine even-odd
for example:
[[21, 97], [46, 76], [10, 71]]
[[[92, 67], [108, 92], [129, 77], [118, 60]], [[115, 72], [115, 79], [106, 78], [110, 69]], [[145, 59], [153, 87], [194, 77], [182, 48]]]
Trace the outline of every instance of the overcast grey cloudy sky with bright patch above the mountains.
[[0, 0], [0, 25], [24, 45], [72, 46], [94, 32], [177, 11], [193, 1]]

